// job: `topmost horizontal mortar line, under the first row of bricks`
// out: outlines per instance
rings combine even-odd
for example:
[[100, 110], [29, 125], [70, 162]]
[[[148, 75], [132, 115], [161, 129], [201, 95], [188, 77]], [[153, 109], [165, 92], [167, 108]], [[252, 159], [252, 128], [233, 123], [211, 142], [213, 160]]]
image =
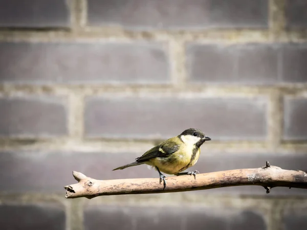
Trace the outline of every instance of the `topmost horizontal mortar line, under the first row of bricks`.
[[[70, 0], [73, 1], [73, 0]], [[76, 0], [75, 0], [76, 1]], [[81, 0], [80, 0], [81, 1]], [[83, 3], [82, 0], [81, 3]], [[277, 1], [277, 0], [271, 0]], [[83, 4], [86, 5], [86, 4]], [[77, 19], [72, 15], [72, 30], [5, 30], [0, 29], [0, 41], [14, 42], [135, 42], [135, 41], [170, 41], [180, 38], [183, 42], [211, 42], [211, 43], [268, 43], [275, 41], [290, 42], [298, 34], [300, 38], [297, 42], [306, 42], [307, 36], [302, 36], [305, 30], [284, 31], [284, 25], [274, 24], [275, 18], [271, 19], [270, 30], [200, 30], [200, 31], [127, 31], [123, 28], [99, 28], [92, 30], [86, 27], [86, 6], [83, 6]], [[275, 15], [275, 14], [274, 14]], [[273, 17], [273, 16], [272, 16]], [[278, 18], [277, 18], [278, 19]], [[78, 22], [77, 22], [78, 20]], [[274, 22], [274, 23], [273, 23]]]

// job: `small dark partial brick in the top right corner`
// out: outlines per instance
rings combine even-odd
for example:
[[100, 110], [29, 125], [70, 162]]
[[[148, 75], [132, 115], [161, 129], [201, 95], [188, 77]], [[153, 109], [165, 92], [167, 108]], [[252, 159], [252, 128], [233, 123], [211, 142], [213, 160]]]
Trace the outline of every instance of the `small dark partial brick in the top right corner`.
[[305, 0], [286, 0], [287, 26], [307, 28], [307, 2]]

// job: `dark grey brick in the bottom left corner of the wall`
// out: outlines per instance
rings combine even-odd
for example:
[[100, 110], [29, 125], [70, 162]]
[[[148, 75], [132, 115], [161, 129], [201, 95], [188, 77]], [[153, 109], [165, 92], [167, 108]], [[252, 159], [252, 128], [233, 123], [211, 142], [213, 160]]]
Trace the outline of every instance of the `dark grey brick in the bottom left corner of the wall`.
[[66, 229], [65, 212], [54, 204], [1, 204], [2, 229]]

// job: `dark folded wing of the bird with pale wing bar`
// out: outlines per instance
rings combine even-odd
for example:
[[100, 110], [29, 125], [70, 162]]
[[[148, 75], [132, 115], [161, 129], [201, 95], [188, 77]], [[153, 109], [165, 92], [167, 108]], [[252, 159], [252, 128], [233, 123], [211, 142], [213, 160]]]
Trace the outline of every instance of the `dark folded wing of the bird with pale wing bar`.
[[164, 142], [160, 145], [149, 149], [145, 152], [142, 156], [136, 158], [137, 162], [146, 162], [148, 159], [155, 158], [155, 157], [166, 157], [170, 154], [178, 151], [179, 145], [173, 142]]

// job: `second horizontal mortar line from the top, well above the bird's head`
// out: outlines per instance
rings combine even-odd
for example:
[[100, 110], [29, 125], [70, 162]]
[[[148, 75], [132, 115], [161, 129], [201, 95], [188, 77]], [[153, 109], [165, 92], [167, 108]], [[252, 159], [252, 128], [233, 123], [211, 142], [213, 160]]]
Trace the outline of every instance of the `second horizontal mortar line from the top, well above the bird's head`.
[[[179, 64], [179, 63], [178, 63]], [[179, 68], [183, 68], [180, 66]], [[188, 95], [202, 94], [210, 96], [270, 96], [272, 90], [280, 90], [282, 94], [288, 96], [307, 95], [307, 83], [304, 84], [282, 84], [282, 85], [218, 85], [211, 84], [210, 88], [204, 87], [205, 84], [188, 84], [182, 88], [176, 88], [169, 85], [79, 85], [79, 84], [51, 84], [51, 85], [29, 85], [29, 84], [0, 84], [0, 95], [55, 95], [67, 96], [71, 94], [82, 94], [84, 96], [99, 96], [109, 94], [125, 94], [128, 96], [146, 96], [150, 94], [159, 94], [163, 97], [171, 95]]]

